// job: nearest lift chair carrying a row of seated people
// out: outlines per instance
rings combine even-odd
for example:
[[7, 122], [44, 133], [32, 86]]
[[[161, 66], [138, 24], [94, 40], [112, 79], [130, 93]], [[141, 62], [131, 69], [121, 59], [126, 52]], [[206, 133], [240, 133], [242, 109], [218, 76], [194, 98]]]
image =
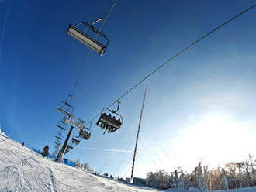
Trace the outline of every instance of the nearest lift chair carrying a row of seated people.
[[[119, 113], [117, 113], [117, 111], [119, 111], [120, 101], [117, 102], [118, 105], [116, 111], [109, 108], [103, 108], [99, 120], [96, 122], [96, 125], [98, 125], [101, 129], [106, 129], [106, 131], [108, 131], [109, 133], [116, 132], [116, 130], [119, 129], [123, 124], [122, 115], [119, 115]], [[106, 112], [104, 112], [106, 110], [110, 112], [109, 115], [107, 115]], [[118, 115], [119, 119], [116, 119], [114, 115]]]

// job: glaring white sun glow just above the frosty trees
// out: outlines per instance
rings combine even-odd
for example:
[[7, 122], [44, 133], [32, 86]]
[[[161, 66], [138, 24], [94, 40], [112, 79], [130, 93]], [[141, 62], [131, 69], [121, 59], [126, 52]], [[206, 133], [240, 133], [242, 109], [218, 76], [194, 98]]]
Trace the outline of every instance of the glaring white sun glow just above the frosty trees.
[[254, 125], [238, 122], [228, 115], [204, 116], [188, 125], [175, 142], [177, 159], [182, 166], [190, 167], [199, 160], [210, 167], [245, 160], [248, 153], [255, 152]]

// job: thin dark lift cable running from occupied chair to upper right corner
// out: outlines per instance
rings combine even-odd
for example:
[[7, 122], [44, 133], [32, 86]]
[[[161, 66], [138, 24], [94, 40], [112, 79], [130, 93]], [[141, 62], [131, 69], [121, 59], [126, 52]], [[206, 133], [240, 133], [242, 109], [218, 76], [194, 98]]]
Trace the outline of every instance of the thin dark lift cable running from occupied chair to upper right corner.
[[[171, 62], [171, 60], [174, 60], [176, 57], [180, 56], [182, 53], [184, 53], [186, 50], [189, 50], [192, 46], [194, 46], [196, 43], [199, 43], [200, 41], [202, 41], [202, 39], [205, 39], [207, 36], [209, 36], [210, 34], [216, 32], [216, 30], [220, 29], [221, 27], [227, 25], [227, 23], [233, 21], [234, 19], [237, 19], [240, 15], [243, 15], [245, 12], [248, 12], [249, 10], [253, 9], [256, 6], [256, 4], [252, 5], [251, 7], [249, 7], [248, 9], [245, 9], [243, 12], [238, 13], [237, 15], [235, 15], [234, 17], [232, 17], [231, 19], [227, 20], [226, 22], [223, 22], [223, 24], [221, 24], [220, 26], [217, 26], [215, 29], [211, 30], [209, 33], [206, 33], [204, 36], [200, 37], [199, 39], [195, 40], [195, 42], [193, 42], [192, 44], [190, 44], [189, 46], [186, 46], [185, 49], [179, 51], [178, 53], [175, 54], [175, 56], [171, 57], [170, 59], [168, 59], [166, 62], [162, 63], [159, 67], [157, 67], [155, 70], [153, 70], [150, 74], [148, 74], [146, 77], [144, 77], [142, 80], [140, 80], [139, 82], [137, 82], [137, 84], [134, 84], [133, 87], [130, 87], [130, 89], [128, 89], [126, 92], [124, 92], [123, 94], [121, 94], [121, 96], [119, 96], [119, 98], [116, 99], [116, 101], [113, 101], [111, 105], [109, 105], [107, 108], [112, 107], [112, 105], [114, 105], [117, 101], [119, 101], [121, 98], [123, 98], [124, 96], [126, 96], [126, 94], [130, 93], [130, 91], [133, 91], [133, 89], [135, 87], [137, 87], [139, 84], [141, 84], [143, 81], [147, 80], [148, 77], [150, 77], [152, 74], [156, 73], [157, 70], [160, 70], [162, 67], [166, 66], [168, 63]], [[101, 113], [99, 113], [98, 115], [96, 115], [94, 118], [92, 118], [89, 122], [92, 122], [95, 118], [99, 117], [99, 115], [101, 115]]]

